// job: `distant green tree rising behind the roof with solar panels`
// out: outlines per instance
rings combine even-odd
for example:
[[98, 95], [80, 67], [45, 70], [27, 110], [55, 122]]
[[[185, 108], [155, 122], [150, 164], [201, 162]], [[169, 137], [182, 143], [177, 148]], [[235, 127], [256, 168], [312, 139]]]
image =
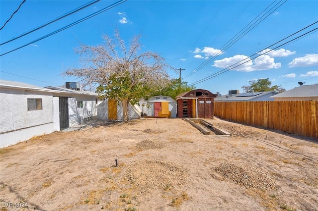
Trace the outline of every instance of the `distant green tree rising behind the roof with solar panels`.
[[242, 86], [243, 92], [267, 92], [267, 91], [274, 91], [274, 92], [285, 92], [286, 90], [281, 86], [271, 86], [272, 82], [269, 81], [269, 78], [260, 78], [258, 80], [252, 80], [248, 82], [249, 86]]

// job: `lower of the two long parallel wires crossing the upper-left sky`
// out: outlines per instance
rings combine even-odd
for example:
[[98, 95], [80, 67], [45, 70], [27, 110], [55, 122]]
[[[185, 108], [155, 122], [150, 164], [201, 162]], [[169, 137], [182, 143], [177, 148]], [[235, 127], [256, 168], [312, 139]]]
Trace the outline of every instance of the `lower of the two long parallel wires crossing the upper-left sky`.
[[59, 33], [59, 32], [61, 32], [61, 31], [65, 30], [65, 29], [68, 29], [68, 28], [70, 28], [70, 27], [72, 27], [72, 26], [74, 26], [74, 25], [76, 25], [76, 24], [78, 24], [78, 23], [80, 23], [80, 22], [82, 22], [82, 21], [85, 21], [85, 20], [87, 20], [87, 19], [89, 19], [89, 18], [91, 18], [91, 17], [94, 17], [94, 16], [96, 16], [96, 15], [98, 15], [98, 14], [100, 14], [100, 13], [106, 11], [106, 10], [109, 10], [109, 9], [111, 9], [111, 8], [117, 6], [117, 5], [119, 5], [119, 4], [121, 4], [121, 3], [125, 2], [125, 1], [127, 1], [127, 0], [119, 0], [119, 1], [117, 1], [117, 2], [115, 2], [115, 3], [113, 3], [113, 4], [111, 4], [111, 5], [109, 5], [109, 6], [107, 6], [107, 7], [104, 7], [103, 9], [98, 10], [97, 12], [94, 12], [94, 13], [92, 13], [92, 14], [90, 14], [90, 15], [87, 15], [86, 17], [81, 18], [81, 19], [79, 19], [79, 20], [77, 20], [77, 21], [75, 21], [75, 22], [73, 22], [73, 23], [71, 23], [71, 24], [69, 24], [69, 25], [67, 25], [67, 26], [65, 26], [65, 27], [62, 27], [62, 28], [60, 28], [60, 29], [58, 29], [58, 30], [56, 30], [56, 31], [54, 31], [54, 32], [51, 32], [50, 34], [47, 34], [47, 35], [45, 35], [45, 36], [43, 36], [43, 37], [40, 37], [40, 38], [38, 38], [38, 39], [36, 39], [36, 40], [34, 40], [34, 41], [32, 41], [32, 42], [29, 42], [29, 43], [27, 43], [27, 44], [25, 44], [25, 45], [23, 45], [23, 46], [20, 46], [20, 47], [18, 47], [18, 48], [16, 48], [16, 49], [13, 49], [13, 50], [11, 50], [11, 51], [9, 51], [9, 52], [2, 53], [2, 54], [0, 54], [0, 56], [5, 55], [5, 54], [8, 54], [8, 53], [11, 53], [11, 52], [14, 52], [14, 51], [16, 51], [16, 50], [18, 50], [18, 49], [21, 49], [21, 48], [25, 47], [25, 46], [28, 46], [28, 45], [30, 45], [30, 44], [33, 44], [33, 43], [37, 42], [37, 41], [43, 40], [43, 39], [45, 39], [45, 38], [47, 38], [47, 37], [50, 37], [50, 36], [52, 36], [52, 35], [54, 35], [54, 34], [56, 34], [56, 33]]

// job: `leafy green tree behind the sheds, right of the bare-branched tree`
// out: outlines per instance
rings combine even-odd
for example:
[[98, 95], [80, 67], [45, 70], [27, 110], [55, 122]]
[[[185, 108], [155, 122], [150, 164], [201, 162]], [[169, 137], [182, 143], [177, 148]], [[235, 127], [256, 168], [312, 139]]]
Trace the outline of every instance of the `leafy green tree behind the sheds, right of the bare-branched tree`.
[[[151, 92], [148, 98], [153, 96], [169, 96], [175, 100], [175, 97], [182, 92], [188, 92], [195, 89], [195, 86], [189, 86], [187, 82], [181, 81], [181, 88], [179, 88], [179, 78], [171, 79], [168, 86], [162, 90]], [[147, 99], [146, 99], [147, 100]]]

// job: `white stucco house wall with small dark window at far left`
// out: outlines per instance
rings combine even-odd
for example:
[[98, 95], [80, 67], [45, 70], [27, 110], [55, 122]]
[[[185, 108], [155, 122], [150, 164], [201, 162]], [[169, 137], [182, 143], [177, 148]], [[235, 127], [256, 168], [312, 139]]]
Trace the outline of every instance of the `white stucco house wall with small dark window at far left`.
[[[42, 99], [42, 109], [28, 111], [28, 98]], [[0, 148], [56, 131], [52, 93], [1, 89], [0, 99]]]

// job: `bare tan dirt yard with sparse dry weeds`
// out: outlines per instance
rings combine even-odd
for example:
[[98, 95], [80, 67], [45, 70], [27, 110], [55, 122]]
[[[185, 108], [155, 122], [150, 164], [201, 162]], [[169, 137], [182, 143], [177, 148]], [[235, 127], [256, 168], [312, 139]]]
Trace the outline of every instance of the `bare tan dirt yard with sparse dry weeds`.
[[208, 121], [233, 136], [141, 119], [0, 149], [2, 211], [318, 211], [317, 139]]

